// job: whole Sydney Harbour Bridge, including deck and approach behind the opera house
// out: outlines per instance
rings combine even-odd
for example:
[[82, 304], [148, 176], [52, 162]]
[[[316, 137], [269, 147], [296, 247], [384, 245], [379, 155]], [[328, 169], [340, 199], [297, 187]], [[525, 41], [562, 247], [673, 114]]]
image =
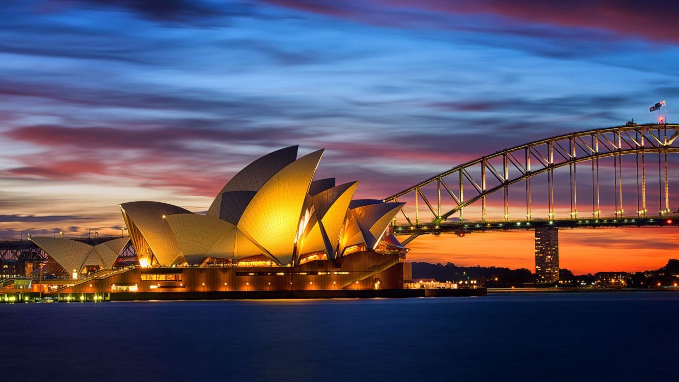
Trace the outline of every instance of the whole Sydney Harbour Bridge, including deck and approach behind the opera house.
[[[384, 197], [407, 202], [390, 229], [405, 245], [441, 233], [677, 227], [669, 155], [679, 152], [677, 138], [676, 124], [628, 122], [496, 151]], [[45, 257], [27, 237], [0, 241], [0, 259]]]

